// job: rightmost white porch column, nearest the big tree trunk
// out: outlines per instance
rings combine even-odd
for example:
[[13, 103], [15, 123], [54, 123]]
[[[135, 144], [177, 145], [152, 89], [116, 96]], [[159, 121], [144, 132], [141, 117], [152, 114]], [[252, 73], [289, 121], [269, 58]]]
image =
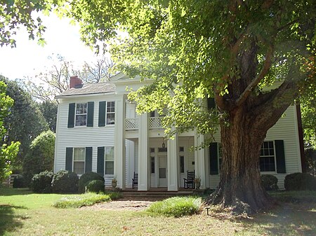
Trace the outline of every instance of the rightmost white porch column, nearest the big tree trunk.
[[[204, 135], [195, 134], [195, 147], [200, 146], [204, 141]], [[206, 188], [206, 172], [205, 172], [205, 150], [200, 148], [195, 150], [195, 176], [201, 179], [200, 189]]]

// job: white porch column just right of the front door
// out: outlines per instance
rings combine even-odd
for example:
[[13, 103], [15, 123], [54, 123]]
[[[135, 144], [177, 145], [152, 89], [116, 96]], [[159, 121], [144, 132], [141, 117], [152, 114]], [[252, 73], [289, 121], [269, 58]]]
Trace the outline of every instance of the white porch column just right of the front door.
[[167, 177], [168, 190], [178, 191], [178, 135], [167, 142]]

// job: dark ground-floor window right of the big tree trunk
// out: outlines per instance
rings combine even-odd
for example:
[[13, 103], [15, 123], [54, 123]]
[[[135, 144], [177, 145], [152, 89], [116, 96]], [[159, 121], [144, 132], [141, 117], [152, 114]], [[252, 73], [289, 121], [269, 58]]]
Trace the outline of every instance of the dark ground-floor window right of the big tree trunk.
[[275, 172], [275, 147], [273, 141], [264, 141], [261, 145], [260, 171]]

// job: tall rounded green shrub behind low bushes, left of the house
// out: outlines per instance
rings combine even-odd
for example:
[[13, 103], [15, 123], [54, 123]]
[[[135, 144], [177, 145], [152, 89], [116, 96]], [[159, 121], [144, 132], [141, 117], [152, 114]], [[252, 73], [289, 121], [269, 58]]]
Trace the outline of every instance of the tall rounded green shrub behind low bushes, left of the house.
[[34, 174], [53, 170], [55, 152], [55, 134], [51, 130], [41, 132], [30, 146], [29, 154], [23, 161], [23, 174], [27, 184]]

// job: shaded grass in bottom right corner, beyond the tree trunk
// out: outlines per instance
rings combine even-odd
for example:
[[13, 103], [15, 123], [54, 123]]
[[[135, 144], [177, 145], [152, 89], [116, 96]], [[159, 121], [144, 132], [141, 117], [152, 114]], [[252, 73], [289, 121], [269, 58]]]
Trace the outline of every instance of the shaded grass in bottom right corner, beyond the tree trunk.
[[264, 235], [316, 235], [315, 203], [282, 203], [269, 213], [240, 221], [247, 230]]

